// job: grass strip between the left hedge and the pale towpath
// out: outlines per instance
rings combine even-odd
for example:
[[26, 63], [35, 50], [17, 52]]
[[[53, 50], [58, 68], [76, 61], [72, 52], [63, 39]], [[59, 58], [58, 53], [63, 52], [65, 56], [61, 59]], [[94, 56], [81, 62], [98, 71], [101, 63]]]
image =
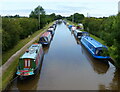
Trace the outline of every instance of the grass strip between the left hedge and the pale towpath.
[[[51, 25], [51, 23], [49, 24]], [[32, 40], [35, 36], [37, 36], [40, 32], [42, 32], [44, 29], [46, 29], [49, 25], [45, 26], [42, 30], [36, 31], [34, 34], [32, 34], [30, 37], [27, 37], [26, 39], [20, 40], [16, 46], [14, 46], [13, 49], [5, 52], [2, 54], [2, 65], [18, 50], [20, 50], [25, 44], [27, 44], [30, 40]]]

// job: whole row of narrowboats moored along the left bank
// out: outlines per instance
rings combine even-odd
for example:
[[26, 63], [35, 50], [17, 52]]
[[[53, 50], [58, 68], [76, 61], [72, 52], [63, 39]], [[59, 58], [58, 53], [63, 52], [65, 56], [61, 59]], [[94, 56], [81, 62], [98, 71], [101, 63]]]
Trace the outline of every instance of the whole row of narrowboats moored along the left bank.
[[42, 34], [38, 43], [32, 44], [19, 58], [16, 74], [21, 77], [35, 75], [40, 68], [43, 57], [43, 45], [49, 45], [55, 33], [56, 22]]

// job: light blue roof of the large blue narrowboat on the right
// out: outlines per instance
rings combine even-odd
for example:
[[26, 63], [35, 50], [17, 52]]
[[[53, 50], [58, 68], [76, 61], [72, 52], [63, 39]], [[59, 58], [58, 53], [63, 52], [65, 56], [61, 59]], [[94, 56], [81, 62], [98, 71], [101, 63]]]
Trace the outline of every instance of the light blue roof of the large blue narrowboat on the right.
[[105, 47], [104, 45], [102, 45], [100, 42], [96, 41], [95, 39], [93, 39], [90, 36], [84, 36], [84, 39], [86, 39], [89, 43], [91, 43], [95, 48], [98, 47]]

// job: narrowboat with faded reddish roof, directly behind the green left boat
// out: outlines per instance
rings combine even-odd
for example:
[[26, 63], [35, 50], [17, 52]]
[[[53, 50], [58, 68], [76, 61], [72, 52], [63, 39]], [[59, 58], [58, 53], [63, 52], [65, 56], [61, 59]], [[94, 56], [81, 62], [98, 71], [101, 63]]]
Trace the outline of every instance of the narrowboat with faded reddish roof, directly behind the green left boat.
[[42, 45], [49, 45], [52, 39], [52, 35], [50, 32], [45, 32], [39, 39], [38, 43], [41, 43]]

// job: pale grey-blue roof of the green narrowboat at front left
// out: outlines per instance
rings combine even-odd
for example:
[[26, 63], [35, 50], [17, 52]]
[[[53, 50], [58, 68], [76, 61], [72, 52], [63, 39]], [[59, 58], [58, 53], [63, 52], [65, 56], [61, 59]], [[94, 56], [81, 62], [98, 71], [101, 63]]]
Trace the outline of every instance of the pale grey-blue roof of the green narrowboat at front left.
[[38, 43], [32, 44], [20, 58], [36, 59], [36, 56], [37, 56], [36, 51], [40, 47], [42, 47], [41, 44], [38, 44]]

